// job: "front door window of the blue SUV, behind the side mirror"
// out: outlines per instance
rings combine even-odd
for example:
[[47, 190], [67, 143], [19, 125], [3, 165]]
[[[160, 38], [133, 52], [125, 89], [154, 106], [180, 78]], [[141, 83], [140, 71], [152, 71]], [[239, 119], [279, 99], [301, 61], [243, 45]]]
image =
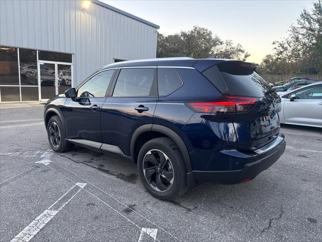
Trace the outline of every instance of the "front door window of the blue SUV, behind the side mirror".
[[77, 97], [105, 97], [114, 70], [96, 74], [77, 90]]

